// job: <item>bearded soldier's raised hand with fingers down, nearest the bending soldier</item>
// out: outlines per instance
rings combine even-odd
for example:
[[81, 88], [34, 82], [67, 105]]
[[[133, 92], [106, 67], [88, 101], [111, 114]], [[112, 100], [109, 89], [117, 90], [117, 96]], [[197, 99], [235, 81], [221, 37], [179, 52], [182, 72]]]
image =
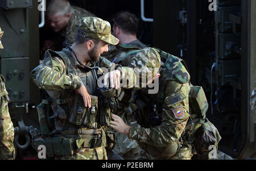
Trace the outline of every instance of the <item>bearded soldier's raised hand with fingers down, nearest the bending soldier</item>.
[[108, 85], [108, 80], [110, 80], [110, 87], [116, 90], [120, 87], [120, 76], [121, 72], [119, 70], [113, 70], [112, 72], [106, 73], [104, 75], [104, 86]]

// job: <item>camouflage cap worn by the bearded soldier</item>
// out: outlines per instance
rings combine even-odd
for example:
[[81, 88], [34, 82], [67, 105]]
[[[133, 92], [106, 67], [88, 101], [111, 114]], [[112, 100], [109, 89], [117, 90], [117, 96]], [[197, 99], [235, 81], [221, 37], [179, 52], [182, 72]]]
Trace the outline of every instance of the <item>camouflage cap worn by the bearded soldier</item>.
[[93, 16], [82, 18], [77, 34], [81, 37], [103, 40], [106, 43], [113, 45], [117, 45], [119, 43], [119, 39], [111, 34], [110, 23]]

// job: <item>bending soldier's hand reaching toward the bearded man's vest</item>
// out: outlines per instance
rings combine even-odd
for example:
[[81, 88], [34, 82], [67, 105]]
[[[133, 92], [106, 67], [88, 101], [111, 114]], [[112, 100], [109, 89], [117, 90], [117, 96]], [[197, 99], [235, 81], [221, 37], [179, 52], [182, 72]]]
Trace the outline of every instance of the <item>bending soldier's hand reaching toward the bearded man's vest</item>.
[[117, 115], [112, 114], [113, 121], [110, 122], [110, 127], [112, 127], [115, 131], [120, 134], [129, 136], [130, 126], [127, 126], [125, 122], [123, 122], [122, 118]]

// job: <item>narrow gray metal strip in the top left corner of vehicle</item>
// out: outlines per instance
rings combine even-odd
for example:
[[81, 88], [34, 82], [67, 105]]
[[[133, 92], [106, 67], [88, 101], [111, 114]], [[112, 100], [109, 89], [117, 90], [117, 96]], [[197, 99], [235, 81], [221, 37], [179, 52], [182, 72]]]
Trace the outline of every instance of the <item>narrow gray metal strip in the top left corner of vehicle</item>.
[[0, 6], [4, 9], [31, 8], [32, 0], [1, 0]]

